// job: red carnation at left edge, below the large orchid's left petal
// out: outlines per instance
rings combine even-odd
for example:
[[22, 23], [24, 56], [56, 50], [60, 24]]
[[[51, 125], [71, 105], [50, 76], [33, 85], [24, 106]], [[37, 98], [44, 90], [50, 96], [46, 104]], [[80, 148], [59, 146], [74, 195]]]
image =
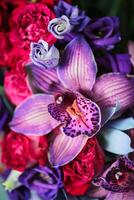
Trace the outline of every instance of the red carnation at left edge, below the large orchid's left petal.
[[48, 142], [46, 136], [27, 137], [19, 133], [8, 133], [2, 142], [2, 162], [18, 171], [33, 164], [45, 165]]

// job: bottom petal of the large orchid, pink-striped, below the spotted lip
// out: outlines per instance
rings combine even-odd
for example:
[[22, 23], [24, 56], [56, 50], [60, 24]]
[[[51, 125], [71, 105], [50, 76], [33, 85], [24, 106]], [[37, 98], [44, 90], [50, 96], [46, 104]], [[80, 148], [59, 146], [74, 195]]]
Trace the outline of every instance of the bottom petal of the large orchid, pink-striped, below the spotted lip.
[[48, 154], [50, 163], [55, 167], [63, 166], [72, 161], [88, 140], [88, 137], [83, 135], [74, 138], [67, 136], [61, 128], [58, 131], [59, 134], [50, 145]]

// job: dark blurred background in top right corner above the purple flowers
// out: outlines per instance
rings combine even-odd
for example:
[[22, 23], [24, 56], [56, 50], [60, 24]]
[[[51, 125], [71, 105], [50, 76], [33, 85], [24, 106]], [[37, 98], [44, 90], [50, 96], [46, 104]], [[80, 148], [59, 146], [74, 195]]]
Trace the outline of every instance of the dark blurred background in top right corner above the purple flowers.
[[73, 0], [89, 17], [118, 16], [123, 41], [134, 41], [134, 0]]

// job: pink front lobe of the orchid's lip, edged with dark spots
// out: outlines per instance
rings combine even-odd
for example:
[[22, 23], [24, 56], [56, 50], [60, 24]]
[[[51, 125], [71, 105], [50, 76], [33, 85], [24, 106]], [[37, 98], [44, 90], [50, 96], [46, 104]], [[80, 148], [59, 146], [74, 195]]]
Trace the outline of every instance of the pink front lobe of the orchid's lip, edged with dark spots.
[[93, 137], [100, 129], [101, 114], [96, 103], [77, 95], [78, 114], [70, 114], [71, 120], [64, 127], [66, 135], [75, 137], [80, 134]]

